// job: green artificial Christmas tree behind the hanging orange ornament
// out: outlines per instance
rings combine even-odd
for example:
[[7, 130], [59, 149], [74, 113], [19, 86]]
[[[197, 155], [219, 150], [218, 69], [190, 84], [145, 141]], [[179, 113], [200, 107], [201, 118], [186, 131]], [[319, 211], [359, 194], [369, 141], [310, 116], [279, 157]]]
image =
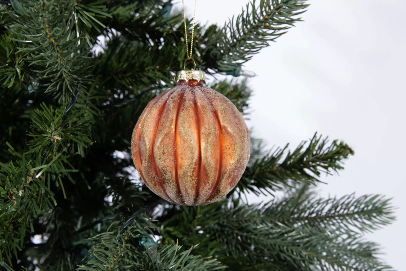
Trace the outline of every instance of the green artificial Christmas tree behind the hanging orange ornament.
[[[196, 24], [194, 60], [207, 85], [247, 116], [253, 90], [233, 78], [308, 6], [253, 1], [224, 26]], [[345, 142], [315, 134], [269, 150], [251, 137], [242, 178], [207, 205], [173, 204], [146, 187], [132, 132], [147, 104], [175, 86], [191, 46], [171, 8], [1, 1], [0, 270], [391, 270], [362, 239], [394, 219], [390, 200], [314, 191], [354, 155]], [[99, 37], [106, 44], [96, 53]], [[247, 193], [272, 200], [247, 204]]]

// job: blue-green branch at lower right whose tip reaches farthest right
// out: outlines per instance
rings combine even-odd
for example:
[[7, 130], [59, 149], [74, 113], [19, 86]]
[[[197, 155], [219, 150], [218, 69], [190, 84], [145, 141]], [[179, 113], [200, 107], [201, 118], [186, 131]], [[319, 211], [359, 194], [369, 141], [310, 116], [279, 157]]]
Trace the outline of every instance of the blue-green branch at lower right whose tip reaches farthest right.
[[[356, 198], [355, 194], [341, 198], [323, 199], [307, 191], [304, 186], [278, 202], [271, 201], [272, 208], [264, 212], [281, 223], [296, 226], [334, 227], [352, 232], [372, 232], [391, 224], [394, 209], [389, 205], [390, 199], [380, 195], [364, 195]], [[294, 195], [294, 196], [293, 196]]]

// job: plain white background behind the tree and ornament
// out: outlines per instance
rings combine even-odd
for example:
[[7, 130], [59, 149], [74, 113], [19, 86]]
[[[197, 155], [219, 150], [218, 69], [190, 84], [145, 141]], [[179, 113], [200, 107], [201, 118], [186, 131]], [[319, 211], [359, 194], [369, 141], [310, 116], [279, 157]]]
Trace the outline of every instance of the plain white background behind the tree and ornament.
[[[247, 2], [197, 0], [197, 21], [223, 25]], [[328, 185], [320, 185], [320, 193], [393, 197], [397, 221], [365, 238], [382, 245], [387, 263], [405, 270], [406, 1], [308, 2], [305, 22], [246, 64], [259, 75], [249, 84], [255, 91], [247, 125], [268, 146], [295, 148], [317, 131], [354, 148], [340, 176], [323, 178]], [[185, 0], [190, 18], [193, 4]]]

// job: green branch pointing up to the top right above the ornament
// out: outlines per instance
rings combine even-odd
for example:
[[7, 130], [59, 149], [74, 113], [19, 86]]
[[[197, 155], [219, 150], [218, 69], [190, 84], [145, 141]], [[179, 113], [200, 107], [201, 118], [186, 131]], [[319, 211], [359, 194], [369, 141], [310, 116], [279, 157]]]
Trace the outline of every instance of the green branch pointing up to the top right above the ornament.
[[[296, 22], [296, 16], [304, 13], [309, 4], [305, 0], [255, 0], [246, 5], [240, 15], [225, 24], [221, 32], [220, 46], [212, 54], [221, 56], [219, 69], [227, 71], [232, 64], [243, 64], [262, 48], [269, 46], [285, 34]], [[217, 40], [218, 42], [218, 40]]]

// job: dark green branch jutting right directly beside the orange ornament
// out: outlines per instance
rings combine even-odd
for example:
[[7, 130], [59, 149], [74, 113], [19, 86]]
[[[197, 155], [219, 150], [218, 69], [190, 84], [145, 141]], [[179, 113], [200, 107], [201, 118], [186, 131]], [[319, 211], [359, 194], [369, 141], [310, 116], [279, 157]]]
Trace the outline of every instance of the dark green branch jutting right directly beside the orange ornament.
[[318, 183], [321, 173], [332, 174], [332, 171], [342, 170], [343, 160], [354, 154], [352, 148], [338, 140], [326, 147], [328, 138], [317, 138], [317, 133], [303, 150], [305, 143], [302, 142], [292, 153], [288, 151], [285, 158], [288, 145], [283, 149], [277, 148], [272, 154], [271, 150], [261, 159], [250, 161], [236, 186], [239, 194], [244, 191], [256, 195], [265, 194], [264, 191], [272, 194], [272, 191], [285, 186]]

